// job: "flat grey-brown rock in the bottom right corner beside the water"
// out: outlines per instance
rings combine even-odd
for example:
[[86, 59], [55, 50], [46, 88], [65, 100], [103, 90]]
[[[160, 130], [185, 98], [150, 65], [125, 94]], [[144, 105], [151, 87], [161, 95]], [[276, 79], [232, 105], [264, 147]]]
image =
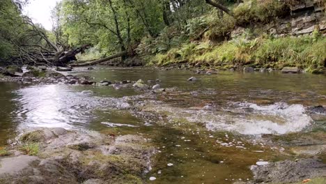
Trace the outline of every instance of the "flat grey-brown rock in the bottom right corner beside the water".
[[294, 183], [306, 178], [325, 177], [326, 164], [313, 158], [285, 160], [253, 166], [251, 171], [254, 181], [250, 183]]

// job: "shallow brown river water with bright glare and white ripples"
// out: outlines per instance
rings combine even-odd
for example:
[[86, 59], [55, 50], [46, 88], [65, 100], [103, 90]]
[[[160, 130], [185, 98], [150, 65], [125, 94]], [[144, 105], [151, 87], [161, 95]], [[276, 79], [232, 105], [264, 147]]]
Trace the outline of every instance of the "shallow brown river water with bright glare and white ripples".
[[[97, 82], [160, 79], [166, 92], [0, 83], [1, 145], [30, 127], [137, 134], [157, 148], [146, 174], [156, 180], [148, 183], [234, 183], [249, 180], [256, 162], [297, 158], [295, 150], [326, 144], [325, 114], [307, 111], [326, 105], [325, 75], [149, 68], [70, 73]], [[192, 76], [198, 80], [188, 82]]]

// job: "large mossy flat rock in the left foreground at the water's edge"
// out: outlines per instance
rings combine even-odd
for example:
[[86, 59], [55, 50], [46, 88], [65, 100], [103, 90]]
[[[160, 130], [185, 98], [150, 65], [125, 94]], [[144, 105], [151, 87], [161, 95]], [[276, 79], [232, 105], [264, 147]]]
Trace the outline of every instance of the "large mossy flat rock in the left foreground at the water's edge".
[[[13, 141], [1, 158], [1, 183], [143, 183], [154, 149], [136, 135], [114, 137], [92, 131], [37, 128]], [[34, 145], [28, 155], [22, 147]]]

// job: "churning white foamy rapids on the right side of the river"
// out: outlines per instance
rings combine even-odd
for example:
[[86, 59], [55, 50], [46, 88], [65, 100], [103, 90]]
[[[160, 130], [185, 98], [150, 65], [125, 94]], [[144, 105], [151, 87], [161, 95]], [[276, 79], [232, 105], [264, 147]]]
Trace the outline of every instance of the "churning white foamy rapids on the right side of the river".
[[260, 106], [241, 103], [238, 108], [233, 109], [233, 112], [236, 113], [244, 108], [249, 108], [249, 112], [238, 116], [218, 115], [210, 119], [202, 118], [201, 121], [206, 123], [206, 127], [210, 130], [236, 131], [243, 135], [283, 135], [289, 132], [300, 132], [312, 121], [302, 105], [275, 103]]

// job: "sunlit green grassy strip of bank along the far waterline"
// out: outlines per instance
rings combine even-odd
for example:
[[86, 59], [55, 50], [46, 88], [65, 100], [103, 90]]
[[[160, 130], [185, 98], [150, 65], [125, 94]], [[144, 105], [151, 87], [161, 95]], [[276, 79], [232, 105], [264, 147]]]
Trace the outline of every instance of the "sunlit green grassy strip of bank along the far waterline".
[[276, 69], [297, 66], [312, 72], [324, 68], [325, 50], [326, 38], [318, 33], [300, 38], [260, 36], [250, 39], [241, 36], [220, 45], [187, 43], [147, 59], [149, 65], [157, 66], [185, 62], [225, 69], [245, 65]]

